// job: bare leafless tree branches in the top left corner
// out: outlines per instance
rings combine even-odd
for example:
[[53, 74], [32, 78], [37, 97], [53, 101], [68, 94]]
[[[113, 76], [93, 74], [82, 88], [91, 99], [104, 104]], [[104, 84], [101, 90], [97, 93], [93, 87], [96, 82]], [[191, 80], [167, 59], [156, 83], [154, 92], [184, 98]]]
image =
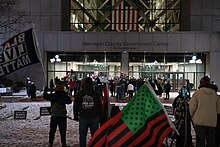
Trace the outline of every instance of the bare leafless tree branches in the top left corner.
[[19, 9], [19, 0], [0, 0], [0, 34], [21, 31], [31, 23], [29, 12]]

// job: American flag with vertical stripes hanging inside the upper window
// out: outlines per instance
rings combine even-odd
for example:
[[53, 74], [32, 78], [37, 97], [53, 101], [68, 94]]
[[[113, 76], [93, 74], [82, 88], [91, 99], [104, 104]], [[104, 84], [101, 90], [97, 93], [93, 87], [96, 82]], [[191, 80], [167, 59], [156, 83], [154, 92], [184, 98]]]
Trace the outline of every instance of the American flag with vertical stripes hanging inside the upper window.
[[[112, 6], [114, 6], [117, 1], [118, 0], [112, 0]], [[138, 11], [130, 6], [125, 0], [112, 11], [111, 17], [112, 30], [136, 31], [138, 28]]]

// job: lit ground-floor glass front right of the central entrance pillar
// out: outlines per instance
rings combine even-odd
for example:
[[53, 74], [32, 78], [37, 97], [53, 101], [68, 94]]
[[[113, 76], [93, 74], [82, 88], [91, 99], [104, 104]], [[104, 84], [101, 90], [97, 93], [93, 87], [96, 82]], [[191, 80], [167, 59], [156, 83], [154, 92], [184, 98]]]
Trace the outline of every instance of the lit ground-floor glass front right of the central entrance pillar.
[[178, 91], [189, 79], [194, 89], [205, 73], [205, 53], [129, 53], [129, 77], [170, 80]]

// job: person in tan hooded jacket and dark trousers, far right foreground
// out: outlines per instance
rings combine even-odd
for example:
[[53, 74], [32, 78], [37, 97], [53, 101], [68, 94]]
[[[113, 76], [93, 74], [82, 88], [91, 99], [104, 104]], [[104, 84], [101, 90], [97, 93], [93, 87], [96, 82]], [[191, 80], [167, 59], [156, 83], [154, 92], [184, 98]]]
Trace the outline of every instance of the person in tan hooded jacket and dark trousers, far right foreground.
[[[200, 86], [189, 101], [189, 110], [192, 117], [197, 147], [215, 147], [215, 132], [217, 114], [220, 113], [220, 99], [216, 91], [218, 87], [211, 84], [211, 79], [204, 76]], [[206, 144], [207, 143], [207, 144]]]

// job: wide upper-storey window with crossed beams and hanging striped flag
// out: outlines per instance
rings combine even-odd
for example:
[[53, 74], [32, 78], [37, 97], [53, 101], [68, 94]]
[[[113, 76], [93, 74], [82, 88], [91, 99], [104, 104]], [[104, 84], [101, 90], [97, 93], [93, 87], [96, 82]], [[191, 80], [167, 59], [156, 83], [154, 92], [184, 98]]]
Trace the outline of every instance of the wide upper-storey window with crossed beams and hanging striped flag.
[[178, 31], [179, 0], [70, 0], [72, 31]]

